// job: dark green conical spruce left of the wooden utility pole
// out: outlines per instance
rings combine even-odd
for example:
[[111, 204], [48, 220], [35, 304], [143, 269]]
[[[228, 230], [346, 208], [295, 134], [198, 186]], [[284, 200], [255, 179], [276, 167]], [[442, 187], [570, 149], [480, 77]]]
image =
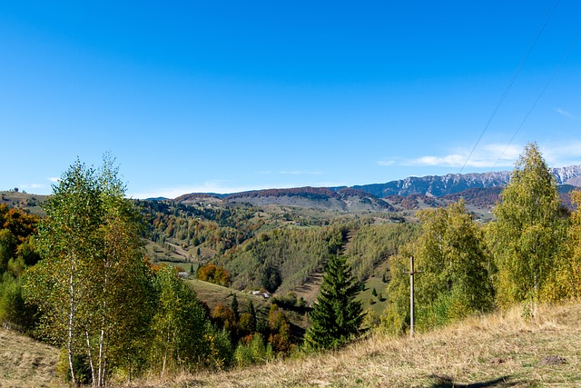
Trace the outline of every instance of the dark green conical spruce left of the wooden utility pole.
[[312, 322], [305, 340], [316, 348], [337, 348], [359, 333], [363, 320], [361, 303], [355, 301], [359, 284], [351, 275], [344, 256], [330, 256], [317, 303], [310, 313]]

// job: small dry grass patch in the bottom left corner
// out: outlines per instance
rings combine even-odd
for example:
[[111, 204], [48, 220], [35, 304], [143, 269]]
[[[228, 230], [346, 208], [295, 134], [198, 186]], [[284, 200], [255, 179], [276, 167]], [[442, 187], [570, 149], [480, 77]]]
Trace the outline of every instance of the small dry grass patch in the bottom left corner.
[[58, 350], [0, 328], [0, 387], [59, 386]]

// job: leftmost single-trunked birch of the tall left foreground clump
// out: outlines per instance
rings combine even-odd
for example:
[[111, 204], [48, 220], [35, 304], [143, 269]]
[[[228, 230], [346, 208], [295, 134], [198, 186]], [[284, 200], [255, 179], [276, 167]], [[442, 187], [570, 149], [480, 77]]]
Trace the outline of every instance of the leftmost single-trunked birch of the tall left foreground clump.
[[66, 348], [76, 385], [74, 355], [82, 352], [84, 327], [92, 315], [90, 264], [103, 252], [103, 206], [94, 169], [77, 160], [53, 186], [44, 210], [37, 242], [44, 260], [27, 274], [25, 291], [44, 313], [42, 333]]

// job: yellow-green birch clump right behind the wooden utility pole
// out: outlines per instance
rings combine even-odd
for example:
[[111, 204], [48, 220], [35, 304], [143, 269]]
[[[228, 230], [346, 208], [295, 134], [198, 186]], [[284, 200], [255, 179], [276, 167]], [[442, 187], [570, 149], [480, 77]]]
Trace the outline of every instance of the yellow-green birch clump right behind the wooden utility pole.
[[384, 323], [394, 333], [402, 333], [409, 325], [410, 255], [416, 271], [421, 271], [415, 283], [419, 330], [492, 308], [489, 258], [464, 201], [421, 211], [419, 219], [419, 237], [391, 261], [390, 303]]

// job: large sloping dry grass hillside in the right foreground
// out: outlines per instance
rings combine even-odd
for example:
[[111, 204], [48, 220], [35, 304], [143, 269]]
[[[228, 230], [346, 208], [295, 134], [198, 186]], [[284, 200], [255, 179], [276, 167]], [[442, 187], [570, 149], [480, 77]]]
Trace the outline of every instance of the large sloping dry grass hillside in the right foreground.
[[[176, 386], [216, 387], [581, 387], [581, 303], [472, 318], [409, 338], [374, 334], [336, 352], [227, 373]], [[557, 355], [566, 363], [539, 366]]]

